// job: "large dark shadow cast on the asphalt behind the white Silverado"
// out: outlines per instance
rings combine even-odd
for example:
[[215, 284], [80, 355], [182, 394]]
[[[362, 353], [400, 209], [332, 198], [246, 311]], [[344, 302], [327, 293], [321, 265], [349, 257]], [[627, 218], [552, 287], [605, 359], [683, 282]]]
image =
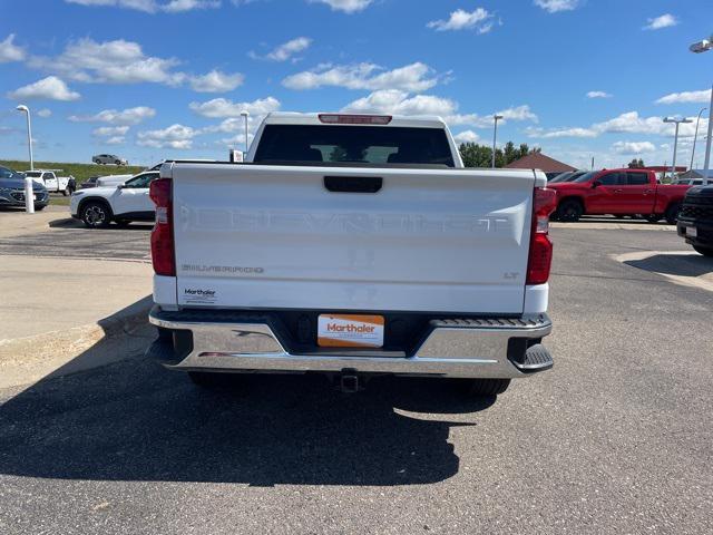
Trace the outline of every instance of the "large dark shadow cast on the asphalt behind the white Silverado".
[[432, 412], [470, 414], [494, 401], [428, 379], [379, 378], [351, 396], [321, 376], [250, 376], [203, 390], [136, 357], [46, 378], [0, 406], [0, 474], [253, 486], [436, 483], [458, 471], [450, 428], [475, 424]]

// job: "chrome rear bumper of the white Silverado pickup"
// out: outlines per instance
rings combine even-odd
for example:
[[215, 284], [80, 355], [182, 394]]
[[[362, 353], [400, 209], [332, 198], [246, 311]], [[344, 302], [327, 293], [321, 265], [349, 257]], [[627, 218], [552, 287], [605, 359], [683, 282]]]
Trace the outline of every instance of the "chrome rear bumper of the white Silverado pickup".
[[[240, 321], [236, 321], [240, 318]], [[324, 350], [295, 354], [260, 317], [221, 312], [164, 312], [154, 307], [149, 321], [164, 333], [191, 332], [187, 354], [176, 354], [170, 339], [148, 352], [169, 369], [224, 372], [393, 373], [460, 378], [517, 378], [551, 368], [540, 339], [551, 331], [546, 314], [527, 318], [433, 320], [411, 356], [383, 351]], [[514, 342], [515, 341], [515, 342]], [[530, 350], [537, 353], [531, 358]], [[545, 358], [540, 358], [545, 354]], [[529, 356], [529, 360], [528, 360]]]

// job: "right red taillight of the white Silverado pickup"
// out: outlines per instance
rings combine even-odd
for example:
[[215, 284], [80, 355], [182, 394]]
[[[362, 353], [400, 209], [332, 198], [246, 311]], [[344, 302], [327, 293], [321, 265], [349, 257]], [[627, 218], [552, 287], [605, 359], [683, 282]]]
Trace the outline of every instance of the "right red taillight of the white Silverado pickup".
[[554, 189], [536, 187], [533, 197], [533, 230], [527, 261], [527, 284], [545, 284], [553, 263], [553, 242], [549, 241], [549, 214], [557, 207]]

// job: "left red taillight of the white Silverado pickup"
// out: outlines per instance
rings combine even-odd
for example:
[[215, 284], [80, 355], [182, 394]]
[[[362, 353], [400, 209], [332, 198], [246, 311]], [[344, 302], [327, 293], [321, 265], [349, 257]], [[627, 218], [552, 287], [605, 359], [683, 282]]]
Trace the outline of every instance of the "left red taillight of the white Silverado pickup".
[[154, 272], [157, 275], [176, 276], [172, 179], [157, 178], [152, 182], [149, 196], [156, 205], [156, 223], [152, 231]]

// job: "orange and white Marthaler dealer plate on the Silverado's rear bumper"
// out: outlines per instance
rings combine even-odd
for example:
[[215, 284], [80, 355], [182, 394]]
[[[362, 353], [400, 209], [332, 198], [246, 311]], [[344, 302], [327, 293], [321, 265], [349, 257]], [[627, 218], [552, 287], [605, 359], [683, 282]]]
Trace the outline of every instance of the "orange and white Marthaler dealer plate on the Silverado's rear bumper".
[[383, 315], [320, 314], [318, 344], [322, 348], [381, 348], [383, 324]]

